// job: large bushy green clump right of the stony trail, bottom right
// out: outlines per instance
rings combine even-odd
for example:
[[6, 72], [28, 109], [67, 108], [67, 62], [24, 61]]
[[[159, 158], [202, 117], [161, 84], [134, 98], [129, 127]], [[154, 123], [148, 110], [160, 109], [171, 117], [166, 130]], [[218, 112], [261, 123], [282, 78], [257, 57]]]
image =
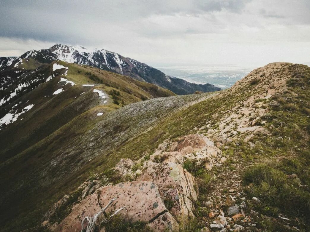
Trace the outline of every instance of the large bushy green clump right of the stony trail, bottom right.
[[[283, 169], [283, 165], [285, 163], [279, 167]], [[265, 213], [274, 214], [277, 212], [276, 208], [279, 208], [288, 216], [310, 222], [306, 216], [310, 212], [310, 193], [299, 188], [298, 183], [294, 179], [288, 179], [283, 171], [261, 163], [246, 170], [243, 181], [245, 184], [253, 184], [249, 194], [262, 201]]]

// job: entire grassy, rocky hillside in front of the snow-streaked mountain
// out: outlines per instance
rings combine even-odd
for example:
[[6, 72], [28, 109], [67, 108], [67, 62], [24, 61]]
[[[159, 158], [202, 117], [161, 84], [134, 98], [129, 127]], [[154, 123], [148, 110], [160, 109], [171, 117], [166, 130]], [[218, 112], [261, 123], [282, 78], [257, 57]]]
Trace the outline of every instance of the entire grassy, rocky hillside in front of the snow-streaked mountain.
[[[145, 82], [129, 79], [140, 84], [131, 90], [136, 97], [125, 85], [107, 85], [115, 73], [58, 61], [49, 64], [50, 70], [55, 63], [69, 67], [57, 74], [67, 81], [59, 83], [55, 76], [23, 94], [22, 102], [30, 99], [26, 103], [33, 107], [24, 120], [0, 131], [7, 139], [0, 164], [6, 173], [0, 178], [3, 231], [80, 231], [83, 218], [93, 217], [113, 197], [118, 199], [107, 215], [126, 210], [97, 223], [97, 229], [309, 230], [308, 66], [270, 63], [230, 89], [184, 96], [161, 88], [154, 96], [153, 85], [146, 88]], [[98, 83], [86, 71], [103, 83], [81, 86]], [[53, 97], [60, 87], [65, 91]], [[43, 92], [35, 97], [41, 88], [50, 91], [42, 103]], [[98, 104], [95, 89], [112, 90], [108, 103], [99, 98]], [[124, 107], [111, 103], [118, 96], [113, 90], [120, 92], [117, 101], [124, 101]], [[140, 101], [142, 95], [159, 98]], [[61, 115], [61, 105], [69, 101], [76, 105]], [[75, 117], [67, 116], [70, 112]], [[54, 125], [49, 120], [57, 126], [45, 132], [41, 124]], [[29, 128], [34, 123], [39, 126]], [[35, 128], [42, 131], [40, 140], [32, 136], [38, 134]]]

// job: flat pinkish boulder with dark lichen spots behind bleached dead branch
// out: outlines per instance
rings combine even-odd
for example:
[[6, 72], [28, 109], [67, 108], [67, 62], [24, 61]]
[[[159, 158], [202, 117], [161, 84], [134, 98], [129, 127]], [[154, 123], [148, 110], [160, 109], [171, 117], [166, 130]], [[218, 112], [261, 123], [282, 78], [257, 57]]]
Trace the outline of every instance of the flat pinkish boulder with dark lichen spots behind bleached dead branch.
[[98, 194], [87, 196], [57, 226], [55, 231], [81, 231], [81, 221], [85, 217], [93, 217], [117, 196], [118, 199], [108, 207], [107, 213], [126, 207], [126, 210], [119, 213], [120, 217], [126, 221], [146, 222], [154, 231], [163, 231], [166, 227], [178, 230], [178, 223], [166, 209], [158, 187], [151, 182], [132, 181], [102, 187]]

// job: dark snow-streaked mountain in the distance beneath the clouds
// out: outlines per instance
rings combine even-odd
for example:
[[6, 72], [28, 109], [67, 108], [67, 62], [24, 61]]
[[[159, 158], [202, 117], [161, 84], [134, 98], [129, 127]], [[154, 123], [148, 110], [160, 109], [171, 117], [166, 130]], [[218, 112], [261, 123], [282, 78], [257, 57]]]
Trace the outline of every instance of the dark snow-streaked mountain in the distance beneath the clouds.
[[0, 71], [16, 67], [24, 59], [34, 59], [39, 63], [60, 60], [68, 63], [88, 65], [99, 69], [130, 76], [134, 79], [156, 84], [176, 94], [189, 94], [195, 91], [213, 92], [220, 88], [211, 84], [194, 84], [182, 79], [172, 78], [144, 63], [105, 49], [86, 49], [78, 46], [56, 44], [49, 49], [31, 50], [16, 58], [0, 57]]

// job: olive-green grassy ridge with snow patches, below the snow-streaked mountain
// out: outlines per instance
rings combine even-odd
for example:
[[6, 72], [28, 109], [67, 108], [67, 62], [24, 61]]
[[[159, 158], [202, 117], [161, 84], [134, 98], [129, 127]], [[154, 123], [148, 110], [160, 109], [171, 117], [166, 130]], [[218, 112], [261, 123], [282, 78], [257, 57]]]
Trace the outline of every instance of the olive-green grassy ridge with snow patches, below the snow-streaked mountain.
[[[50, 68], [53, 63], [50, 64]], [[62, 77], [73, 81], [76, 85], [63, 85], [64, 83], [59, 83], [60, 77], [55, 77], [49, 82], [43, 83], [38, 88], [22, 95], [7, 107], [12, 107], [20, 101], [26, 102], [29, 100], [27, 105], [34, 104], [32, 110], [22, 115], [21, 118], [24, 118], [22, 121], [18, 119], [0, 131], [0, 138], [4, 144], [0, 152], [0, 169], [3, 173], [7, 173], [6, 176], [1, 176], [0, 178], [1, 183], [6, 185], [1, 190], [3, 193], [1, 197], [3, 204], [1, 207], [7, 208], [9, 207], [8, 205], [11, 204], [12, 206], [15, 204], [19, 210], [17, 213], [23, 212], [24, 207], [29, 208], [29, 204], [19, 205], [19, 199], [24, 199], [20, 201], [21, 203], [28, 198], [29, 201], [27, 201], [30, 204], [38, 202], [38, 195], [46, 199], [44, 190], [40, 189], [42, 186], [38, 183], [39, 180], [36, 173], [42, 171], [41, 179], [39, 179], [49, 182], [49, 176], [42, 174], [46, 172], [45, 164], [53, 156], [62, 156], [57, 149], [63, 149], [64, 147], [61, 147], [63, 143], [70, 144], [70, 140], [82, 136], [86, 131], [89, 131], [108, 112], [115, 111], [124, 105], [138, 102], [142, 99], [175, 95], [171, 91], [156, 85], [140, 82], [112, 72], [59, 61], [57, 63], [69, 67], [68, 74]], [[91, 87], [81, 86], [80, 84], [97, 85]], [[52, 95], [58, 88], [63, 88], [65, 91]], [[108, 102], [103, 104], [103, 101], [106, 99], [99, 98], [98, 94], [93, 92], [93, 89], [106, 92], [109, 97]], [[83, 92], [85, 93], [81, 95]], [[104, 115], [98, 117], [97, 114], [99, 112], [104, 113]], [[46, 143], [46, 141], [48, 142]], [[41, 148], [39, 151], [33, 152], [33, 147], [36, 148], [42, 144], [45, 146], [43, 149]], [[27, 149], [31, 152], [29, 156], [24, 155], [25, 153], [29, 154]], [[80, 165], [84, 166], [85, 160], [78, 159], [77, 153], [78, 151], [73, 152], [68, 162], [70, 165], [74, 162], [80, 162]], [[85, 170], [87, 169], [90, 169], [89, 165], [85, 168]], [[23, 173], [24, 176], [20, 177], [20, 173]], [[53, 170], [49, 174], [51, 173], [53, 173]], [[70, 179], [71, 177], [69, 176], [68, 178]], [[70, 180], [75, 178], [76, 176]], [[68, 181], [68, 179], [65, 181]], [[20, 186], [27, 185], [32, 186], [29, 187], [32, 193], [38, 189], [42, 192], [36, 192], [37, 195], [32, 196], [29, 191], [17, 191], [18, 193], [13, 191], [9, 195], [10, 198], [7, 198], [8, 193], [12, 189], [19, 189]], [[55, 193], [61, 195], [63, 193], [53, 189], [47, 190], [47, 196]], [[48, 191], [51, 192], [49, 193]], [[42, 195], [43, 192], [44, 194]], [[7, 205], [4, 202], [7, 202]], [[13, 213], [15, 209], [14, 206], [11, 207], [12, 211], [8, 213]], [[42, 213], [41, 210], [39, 211]], [[13, 214], [15, 215], [15, 212]]]

